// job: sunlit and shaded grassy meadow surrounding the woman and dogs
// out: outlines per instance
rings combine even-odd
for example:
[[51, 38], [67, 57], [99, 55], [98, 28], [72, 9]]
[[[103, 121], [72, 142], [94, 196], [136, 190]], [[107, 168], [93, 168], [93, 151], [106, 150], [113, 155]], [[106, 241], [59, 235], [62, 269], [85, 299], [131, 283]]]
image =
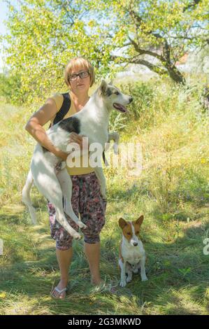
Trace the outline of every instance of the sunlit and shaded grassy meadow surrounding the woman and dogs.
[[[1, 103], [0, 314], [209, 314], [209, 255], [203, 255], [209, 233], [208, 120], [199, 104], [199, 87], [173, 89], [161, 82], [134, 91], [134, 114], [123, 121], [120, 134], [122, 142], [140, 142], [143, 172], [131, 176], [124, 168], [105, 169], [108, 207], [101, 275], [117, 286], [117, 294], [91, 286], [83, 242], [74, 241], [66, 300], [50, 297], [59, 269], [45, 200], [34, 188], [37, 226], [30, 224], [20, 202], [34, 148], [23, 127], [35, 108], [28, 113], [26, 107]], [[143, 93], [147, 96], [138, 106], [137, 94]], [[134, 275], [120, 288], [117, 222], [120, 216], [135, 220], [140, 214], [145, 216], [140, 235], [148, 281]]]

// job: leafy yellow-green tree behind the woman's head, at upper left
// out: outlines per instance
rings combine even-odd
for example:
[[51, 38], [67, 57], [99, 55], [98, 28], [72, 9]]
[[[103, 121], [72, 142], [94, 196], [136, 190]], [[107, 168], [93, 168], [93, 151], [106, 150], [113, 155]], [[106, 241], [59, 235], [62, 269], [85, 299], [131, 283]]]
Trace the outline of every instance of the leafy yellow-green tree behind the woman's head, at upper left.
[[64, 66], [75, 56], [92, 61], [97, 77], [106, 74], [109, 58], [102, 55], [101, 29], [94, 34], [88, 0], [7, 2], [5, 57], [11, 74], [20, 76], [20, 101], [34, 102], [66, 89]]

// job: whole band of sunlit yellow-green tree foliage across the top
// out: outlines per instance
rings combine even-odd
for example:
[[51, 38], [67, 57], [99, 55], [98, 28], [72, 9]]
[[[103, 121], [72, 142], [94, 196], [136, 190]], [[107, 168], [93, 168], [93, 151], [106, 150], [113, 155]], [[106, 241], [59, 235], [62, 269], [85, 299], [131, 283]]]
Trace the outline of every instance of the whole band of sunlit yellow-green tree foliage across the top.
[[175, 63], [207, 43], [208, 0], [196, 6], [189, 0], [12, 3], [1, 41], [10, 72], [20, 80], [14, 101], [31, 103], [63, 90], [64, 66], [79, 55], [94, 64], [97, 79], [114, 76], [121, 63], [136, 63], [184, 82]]

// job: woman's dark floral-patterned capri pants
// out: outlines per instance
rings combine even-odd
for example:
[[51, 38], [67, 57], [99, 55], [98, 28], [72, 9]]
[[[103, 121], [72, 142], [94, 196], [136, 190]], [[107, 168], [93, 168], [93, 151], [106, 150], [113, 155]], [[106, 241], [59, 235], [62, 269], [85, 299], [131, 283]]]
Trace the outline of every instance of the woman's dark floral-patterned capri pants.
[[[76, 216], [80, 214], [80, 220], [87, 225], [81, 229], [84, 234], [84, 241], [87, 244], [96, 244], [100, 241], [99, 234], [105, 224], [106, 200], [103, 200], [100, 192], [99, 181], [94, 172], [85, 175], [72, 175], [73, 183], [71, 204]], [[64, 230], [56, 220], [56, 212], [53, 205], [48, 202], [50, 215], [50, 230], [52, 239], [56, 240], [56, 247], [60, 250], [71, 248], [73, 237]], [[78, 225], [69, 216], [66, 220], [78, 231]]]

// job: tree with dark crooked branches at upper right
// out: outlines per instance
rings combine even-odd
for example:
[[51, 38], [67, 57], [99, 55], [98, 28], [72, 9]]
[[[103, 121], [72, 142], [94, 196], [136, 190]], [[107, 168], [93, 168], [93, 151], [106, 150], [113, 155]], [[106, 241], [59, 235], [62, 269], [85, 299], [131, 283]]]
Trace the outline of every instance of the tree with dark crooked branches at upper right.
[[189, 50], [208, 45], [208, 0], [100, 3], [106, 16], [112, 18], [109, 43], [117, 51], [113, 60], [144, 65], [159, 75], [170, 76], [176, 83], [185, 83], [175, 63]]

